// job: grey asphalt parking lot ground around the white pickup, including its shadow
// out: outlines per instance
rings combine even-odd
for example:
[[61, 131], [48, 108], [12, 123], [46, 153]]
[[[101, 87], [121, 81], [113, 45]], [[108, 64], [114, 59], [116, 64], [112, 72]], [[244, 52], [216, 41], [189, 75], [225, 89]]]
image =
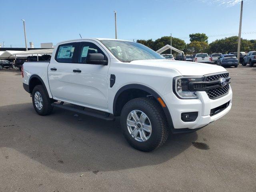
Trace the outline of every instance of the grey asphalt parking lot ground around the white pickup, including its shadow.
[[0, 191], [256, 191], [256, 67], [227, 70], [232, 110], [149, 153], [128, 145], [118, 120], [39, 116], [20, 72], [1, 70]]

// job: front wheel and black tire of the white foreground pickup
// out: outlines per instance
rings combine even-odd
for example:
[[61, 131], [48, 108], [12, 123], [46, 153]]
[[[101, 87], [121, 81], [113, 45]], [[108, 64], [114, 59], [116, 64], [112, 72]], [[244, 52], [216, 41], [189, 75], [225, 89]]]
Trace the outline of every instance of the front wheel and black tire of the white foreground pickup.
[[152, 151], [168, 138], [167, 122], [159, 104], [150, 98], [128, 101], [121, 112], [120, 122], [128, 143], [141, 151]]

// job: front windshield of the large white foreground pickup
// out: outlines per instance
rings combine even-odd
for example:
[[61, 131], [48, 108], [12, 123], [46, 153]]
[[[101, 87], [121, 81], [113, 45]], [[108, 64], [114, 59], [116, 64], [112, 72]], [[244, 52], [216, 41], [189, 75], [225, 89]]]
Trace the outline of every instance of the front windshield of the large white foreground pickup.
[[152, 49], [136, 42], [119, 40], [100, 40], [102, 44], [120, 61], [165, 59]]

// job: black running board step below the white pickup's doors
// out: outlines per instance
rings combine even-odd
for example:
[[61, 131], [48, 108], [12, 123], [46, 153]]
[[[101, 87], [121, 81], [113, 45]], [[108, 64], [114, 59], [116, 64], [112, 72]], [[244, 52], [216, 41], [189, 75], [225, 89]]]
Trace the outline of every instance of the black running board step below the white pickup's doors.
[[92, 117], [95, 117], [95, 118], [100, 118], [100, 119], [103, 119], [103, 120], [106, 120], [106, 121], [114, 121], [115, 120], [114, 117], [110, 117], [109, 113], [98, 114], [96, 112], [84, 111], [82, 109], [66, 106], [63, 103], [60, 103], [60, 104], [52, 103], [52, 106], [62, 108], [62, 109], [66, 109], [66, 110], [70, 110], [70, 111], [73, 111], [73, 112], [76, 112], [76, 113], [92, 116]]

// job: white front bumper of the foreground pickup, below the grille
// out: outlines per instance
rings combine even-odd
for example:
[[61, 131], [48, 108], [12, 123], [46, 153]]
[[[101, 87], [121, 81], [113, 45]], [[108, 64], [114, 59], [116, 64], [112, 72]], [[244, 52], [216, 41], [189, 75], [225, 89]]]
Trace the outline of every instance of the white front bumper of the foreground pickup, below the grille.
[[[182, 132], [183, 129], [184, 132], [188, 132], [185, 130], [197, 130], [221, 118], [230, 111], [232, 106], [232, 89], [230, 85], [228, 94], [218, 99], [210, 99], [205, 91], [198, 91], [197, 93], [198, 99], [179, 99], [173, 92], [162, 96], [170, 111], [175, 131]], [[221, 106], [228, 101], [230, 103], [227, 108], [218, 114], [210, 116], [211, 109]], [[198, 112], [198, 117], [194, 122], [184, 122], [181, 120], [181, 114], [186, 112]]]

